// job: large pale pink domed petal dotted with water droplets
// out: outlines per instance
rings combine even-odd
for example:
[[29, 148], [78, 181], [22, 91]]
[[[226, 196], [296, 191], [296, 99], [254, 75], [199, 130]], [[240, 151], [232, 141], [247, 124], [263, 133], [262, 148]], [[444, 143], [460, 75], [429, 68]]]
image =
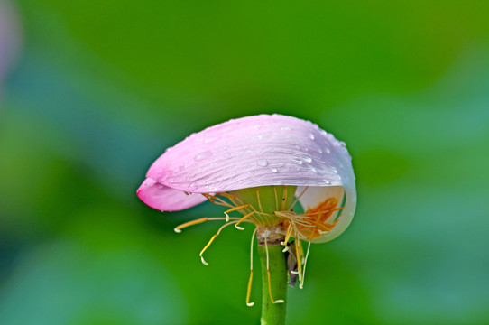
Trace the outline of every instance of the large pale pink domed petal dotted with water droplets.
[[[291, 116], [247, 116], [208, 127], [167, 149], [146, 177], [193, 193], [285, 184], [341, 186], [350, 199], [355, 196], [355, 175], [345, 144], [318, 125]], [[151, 197], [144, 193], [150, 188], [140, 188], [144, 202]], [[156, 193], [160, 204], [146, 202], [155, 209], [198, 204], [193, 196], [175, 203], [173, 192]]]

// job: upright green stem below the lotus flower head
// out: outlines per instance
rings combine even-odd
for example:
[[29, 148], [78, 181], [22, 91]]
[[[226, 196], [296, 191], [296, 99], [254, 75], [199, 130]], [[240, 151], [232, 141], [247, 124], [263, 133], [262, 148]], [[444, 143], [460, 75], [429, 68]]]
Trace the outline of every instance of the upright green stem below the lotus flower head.
[[262, 261], [262, 325], [285, 324], [285, 311], [287, 308], [287, 264], [282, 253], [283, 246], [268, 246], [268, 262], [270, 268], [270, 286], [273, 300], [283, 300], [282, 303], [273, 303], [268, 290], [267, 257], [265, 246], [258, 246], [258, 253]]

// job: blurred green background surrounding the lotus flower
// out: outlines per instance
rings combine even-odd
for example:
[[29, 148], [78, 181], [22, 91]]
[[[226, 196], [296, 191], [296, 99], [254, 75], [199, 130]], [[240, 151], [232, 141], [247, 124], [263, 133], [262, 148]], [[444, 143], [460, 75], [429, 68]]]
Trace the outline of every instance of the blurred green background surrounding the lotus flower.
[[0, 4], [1, 324], [258, 323], [251, 229], [206, 267], [217, 224], [173, 228], [222, 209], [135, 190], [167, 146], [259, 113], [346, 141], [357, 177], [289, 324], [489, 323], [489, 2]]

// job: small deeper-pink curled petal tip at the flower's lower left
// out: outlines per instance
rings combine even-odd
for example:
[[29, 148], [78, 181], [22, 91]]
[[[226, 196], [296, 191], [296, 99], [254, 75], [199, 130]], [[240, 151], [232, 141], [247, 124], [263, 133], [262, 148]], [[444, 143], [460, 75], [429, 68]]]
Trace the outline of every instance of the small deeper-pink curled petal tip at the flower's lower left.
[[152, 209], [178, 211], [188, 209], [207, 200], [203, 195], [187, 195], [181, 190], [173, 190], [150, 178], [143, 181], [137, 196]]

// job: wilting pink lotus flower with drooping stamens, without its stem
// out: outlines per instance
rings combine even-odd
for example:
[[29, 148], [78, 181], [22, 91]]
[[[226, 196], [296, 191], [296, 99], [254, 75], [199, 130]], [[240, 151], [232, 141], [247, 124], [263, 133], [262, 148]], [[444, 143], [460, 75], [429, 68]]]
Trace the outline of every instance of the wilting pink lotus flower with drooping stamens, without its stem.
[[[189, 135], [152, 163], [137, 194], [162, 211], [188, 209], [205, 200], [228, 208], [227, 223], [208, 246], [222, 228], [235, 224], [242, 229], [238, 225], [243, 222], [257, 227], [258, 242], [265, 246], [286, 250], [294, 237], [300, 287], [310, 243], [343, 233], [356, 205], [345, 143], [318, 125], [281, 115], [233, 119]], [[229, 217], [234, 211], [242, 217]], [[225, 218], [201, 218], [175, 230], [209, 219]], [[297, 245], [300, 240], [309, 242], [306, 258]]]

